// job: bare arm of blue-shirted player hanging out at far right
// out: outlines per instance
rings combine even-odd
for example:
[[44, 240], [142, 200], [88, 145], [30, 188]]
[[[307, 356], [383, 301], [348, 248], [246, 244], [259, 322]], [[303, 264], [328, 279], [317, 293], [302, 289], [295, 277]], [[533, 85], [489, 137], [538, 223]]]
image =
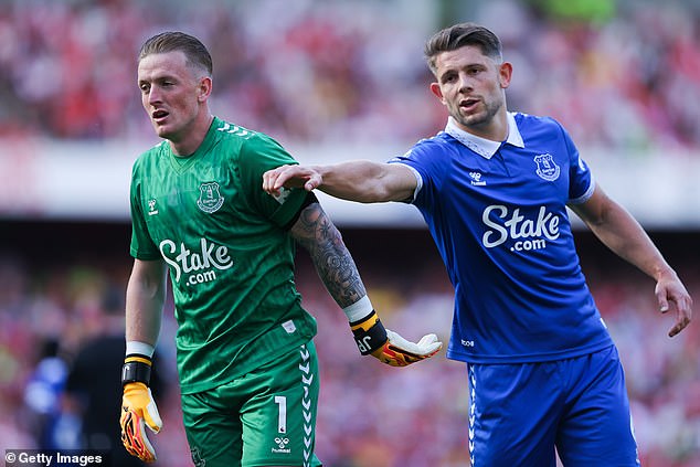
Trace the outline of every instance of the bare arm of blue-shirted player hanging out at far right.
[[676, 311], [676, 322], [668, 335], [674, 337], [683, 330], [692, 318], [692, 299], [639, 223], [600, 187], [588, 201], [571, 209], [603, 244], [656, 280], [660, 311]]

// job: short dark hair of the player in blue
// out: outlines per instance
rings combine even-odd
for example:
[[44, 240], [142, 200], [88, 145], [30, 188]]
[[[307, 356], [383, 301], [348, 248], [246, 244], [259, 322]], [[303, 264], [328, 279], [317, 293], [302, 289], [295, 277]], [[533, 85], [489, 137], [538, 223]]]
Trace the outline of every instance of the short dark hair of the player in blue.
[[496, 61], [502, 60], [500, 39], [489, 29], [476, 23], [459, 23], [445, 28], [425, 43], [425, 59], [431, 71], [435, 73], [435, 60], [443, 52], [452, 52], [465, 45], [476, 45], [481, 53]]

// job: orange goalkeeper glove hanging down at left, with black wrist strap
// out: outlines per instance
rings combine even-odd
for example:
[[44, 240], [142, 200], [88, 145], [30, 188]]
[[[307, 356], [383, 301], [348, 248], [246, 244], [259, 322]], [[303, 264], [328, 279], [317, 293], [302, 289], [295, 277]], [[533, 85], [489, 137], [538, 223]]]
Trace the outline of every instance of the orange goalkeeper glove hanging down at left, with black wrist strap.
[[130, 354], [124, 361], [121, 383], [121, 443], [126, 450], [144, 460], [156, 460], [156, 450], [146, 436], [145, 426], [158, 433], [162, 428], [162, 421], [153, 401], [148, 383], [150, 380], [151, 360], [146, 355]]

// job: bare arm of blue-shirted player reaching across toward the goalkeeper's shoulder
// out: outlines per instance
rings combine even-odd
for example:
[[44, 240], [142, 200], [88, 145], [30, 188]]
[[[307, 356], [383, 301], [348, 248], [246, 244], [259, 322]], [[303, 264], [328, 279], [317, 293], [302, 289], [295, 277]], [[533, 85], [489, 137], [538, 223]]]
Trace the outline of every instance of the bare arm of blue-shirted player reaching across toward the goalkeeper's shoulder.
[[263, 189], [271, 194], [278, 194], [283, 187], [303, 187], [362, 203], [406, 201], [413, 198], [416, 185], [415, 174], [407, 166], [369, 160], [333, 166], [282, 166], [263, 176]]

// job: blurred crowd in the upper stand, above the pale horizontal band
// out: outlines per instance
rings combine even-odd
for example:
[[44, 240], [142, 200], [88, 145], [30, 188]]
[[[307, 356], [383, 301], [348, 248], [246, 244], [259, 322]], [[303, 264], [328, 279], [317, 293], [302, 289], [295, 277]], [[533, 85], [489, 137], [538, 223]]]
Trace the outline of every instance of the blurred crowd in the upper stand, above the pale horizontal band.
[[596, 21], [555, 18], [543, 6], [566, 2], [538, 0], [427, 14], [449, 3], [6, 1], [0, 137], [151, 138], [135, 56], [149, 35], [180, 29], [213, 54], [213, 109], [224, 118], [283, 141], [409, 144], [445, 124], [424, 41], [444, 22], [475, 20], [501, 35], [515, 64], [511, 109], [559, 118], [584, 147], [700, 145], [693, 2], [618, 0]]

